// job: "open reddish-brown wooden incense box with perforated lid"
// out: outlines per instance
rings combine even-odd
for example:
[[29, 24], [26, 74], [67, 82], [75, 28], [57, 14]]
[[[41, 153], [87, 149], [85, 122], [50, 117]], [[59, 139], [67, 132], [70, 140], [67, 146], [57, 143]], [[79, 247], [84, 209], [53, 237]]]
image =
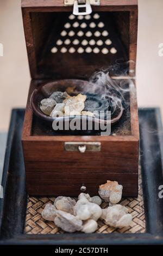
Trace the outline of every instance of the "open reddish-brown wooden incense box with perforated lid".
[[[136, 61], [136, 0], [101, 0], [100, 5], [92, 6], [91, 19], [80, 20], [76, 17], [75, 21], [71, 20], [72, 10], [72, 6], [64, 5], [64, 0], [22, 0], [24, 33], [32, 76], [22, 134], [28, 193], [77, 196], [80, 188], [85, 186], [87, 193], [95, 195], [100, 184], [116, 180], [123, 185], [123, 196], [135, 197], [138, 191], [139, 160], [135, 91], [129, 93], [128, 112], [112, 127], [110, 136], [55, 133], [33, 114], [30, 106], [33, 90], [47, 81], [87, 79], [93, 72], [113, 64], [117, 59]], [[99, 15], [98, 21], [93, 18], [95, 14]], [[78, 22], [78, 27], [74, 26], [74, 22]], [[90, 27], [91, 22], [96, 27]], [[105, 27], [98, 26], [99, 22], [103, 22]], [[66, 35], [61, 35], [62, 31], [66, 31]], [[70, 36], [70, 31], [74, 32], [73, 36]], [[83, 31], [82, 38], [79, 31]], [[81, 45], [87, 32], [91, 32], [88, 41], [104, 42], [103, 46], [98, 46], [98, 53], [86, 52], [87, 46], [83, 46], [84, 52], [79, 53], [79, 46], [73, 45], [75, 39]], [[109, 35], [106, 36], [106, 32]], [[70, 39], [70, 45], [64, 44], [66, 39]], [[106, 39], [110, 39], [112, 44], [105, 45]], [[62, 45], [56, 45], [58, 40], [62, 41]], [[62, 47], [66, 52], [61, 52]], [[76, 51], [70, 53], [70, 47]], [[96, 45], [90, 47], [93, 50]], [[103, 47], [109, 49], [107, 54], [102, 52]], [[134, 79], [133, 63], [129, 64], [128, 75]], [[85, 153], [66, 151], [65, 142], [76, 142], [79, 145], [98, 142], [101, 150], [86, 150]]]

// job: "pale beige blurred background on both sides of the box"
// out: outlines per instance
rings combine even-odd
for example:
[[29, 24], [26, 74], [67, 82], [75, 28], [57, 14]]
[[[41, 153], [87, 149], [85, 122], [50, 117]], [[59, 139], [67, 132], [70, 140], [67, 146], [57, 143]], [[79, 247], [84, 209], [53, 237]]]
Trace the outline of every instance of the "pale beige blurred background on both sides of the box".
[[[163, 112], [163, 0], [139, 0], [137, 97], [139, 106]], [[24, 41], [21, 0], [0, 0], [0, 131], [8, 129], [11, 108], [26, 105], [30, 75]]]

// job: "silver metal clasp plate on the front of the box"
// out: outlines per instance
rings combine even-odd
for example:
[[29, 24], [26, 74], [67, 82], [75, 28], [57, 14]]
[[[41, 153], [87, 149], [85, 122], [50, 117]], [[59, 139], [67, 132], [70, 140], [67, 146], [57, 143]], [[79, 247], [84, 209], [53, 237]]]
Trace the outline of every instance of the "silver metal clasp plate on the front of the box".
[[66, 151], [99, 152], [101, 151], [101, 142], [65, 142]]

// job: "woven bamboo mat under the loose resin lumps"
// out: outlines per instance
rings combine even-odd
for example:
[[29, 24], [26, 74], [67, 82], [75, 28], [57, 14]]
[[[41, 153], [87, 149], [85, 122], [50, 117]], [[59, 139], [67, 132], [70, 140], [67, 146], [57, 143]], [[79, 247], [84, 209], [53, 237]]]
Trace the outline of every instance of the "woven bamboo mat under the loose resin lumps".
[[[142, 198], [141, 174], [139, 174], [139, 195], [137, 198], [126, 198], [121, 200], [121, 205], [128, 208], [128, 212], [133, 216], [133, 221], [129, 227], [116, 229], [109, 227], [101, 219], [98, 220], [98, 229], [96, 233], [145, 233], [145, 212]], [[41, 212], [46, 204], [53, 203], [54, 198], [34, 198], [28, 197], [26, 234], [62, 234], [60, 228], [57, 228], [54, 222], [45, 221], [41, 217]], [[102, 208], [108, 207], [108, 203], [102, 203]]]

